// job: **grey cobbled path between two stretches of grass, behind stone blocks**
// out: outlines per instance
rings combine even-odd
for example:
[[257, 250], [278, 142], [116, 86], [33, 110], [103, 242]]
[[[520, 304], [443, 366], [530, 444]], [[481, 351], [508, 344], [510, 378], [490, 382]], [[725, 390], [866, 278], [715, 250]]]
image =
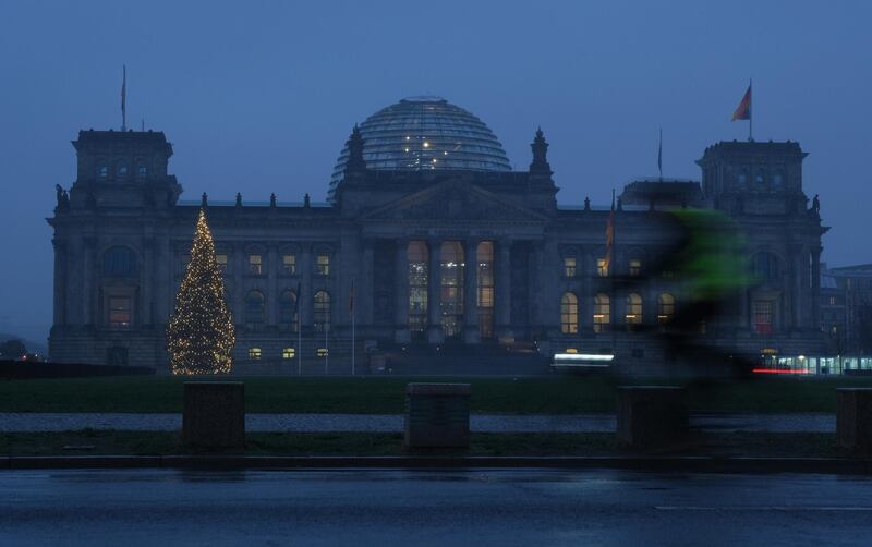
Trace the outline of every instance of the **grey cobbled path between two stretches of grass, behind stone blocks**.
[[[691, 425], [708, 431], [834, 433], [833, 414], [704, 414]], [[172, 431], [182, 426], [180, 414], [122, 413], [0, 413], [0, 433], [119, 429]], [[401, 431], [401, 414], [249, 414], [249, 431]], [[610, 433], [614, 414], [496, 415], [473, 414], [470, 428], [480, 433]]]

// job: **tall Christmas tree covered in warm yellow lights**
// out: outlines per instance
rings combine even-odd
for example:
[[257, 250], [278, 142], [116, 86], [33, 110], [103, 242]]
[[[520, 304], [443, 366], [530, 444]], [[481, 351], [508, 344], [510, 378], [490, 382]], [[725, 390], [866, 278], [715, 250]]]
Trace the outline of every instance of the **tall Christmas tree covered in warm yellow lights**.
[[215, 242], [201, 209], [191, 262], [167, 327], [172, 374], [228, 374], [233, 344], [235, 333], [215, 259]]

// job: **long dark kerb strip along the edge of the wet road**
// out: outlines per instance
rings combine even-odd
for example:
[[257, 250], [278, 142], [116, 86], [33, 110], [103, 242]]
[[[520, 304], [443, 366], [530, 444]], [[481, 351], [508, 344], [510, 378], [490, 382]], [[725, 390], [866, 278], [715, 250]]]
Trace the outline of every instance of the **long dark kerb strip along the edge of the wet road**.
[[0, 470], [35, 469], [619, 469], [702, 473], [836, 473], [872, 475], [872, 460], [836, 458], [614, 457], [283, 457], [283, 455], [26, 455], [0, 457]]

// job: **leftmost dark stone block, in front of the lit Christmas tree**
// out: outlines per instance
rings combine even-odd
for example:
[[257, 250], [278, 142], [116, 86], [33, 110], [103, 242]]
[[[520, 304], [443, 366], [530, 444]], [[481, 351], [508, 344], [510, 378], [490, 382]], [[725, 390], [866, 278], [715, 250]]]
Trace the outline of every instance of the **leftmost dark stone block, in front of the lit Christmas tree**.
[[245, 447], [241, 381], [185, 381], [182, 441], [204, 449]]

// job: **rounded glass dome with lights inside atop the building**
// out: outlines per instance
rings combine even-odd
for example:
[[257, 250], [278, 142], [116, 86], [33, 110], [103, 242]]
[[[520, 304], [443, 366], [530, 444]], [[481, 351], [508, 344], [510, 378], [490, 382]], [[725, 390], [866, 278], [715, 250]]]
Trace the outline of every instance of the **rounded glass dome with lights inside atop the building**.
[[[441, 97], [408, 97], [360, 125], [367, 169], [511, 171], [506, 151], [479, 118]], [[348, 144], [330, 178], [330, 196], [342, 180]]]

